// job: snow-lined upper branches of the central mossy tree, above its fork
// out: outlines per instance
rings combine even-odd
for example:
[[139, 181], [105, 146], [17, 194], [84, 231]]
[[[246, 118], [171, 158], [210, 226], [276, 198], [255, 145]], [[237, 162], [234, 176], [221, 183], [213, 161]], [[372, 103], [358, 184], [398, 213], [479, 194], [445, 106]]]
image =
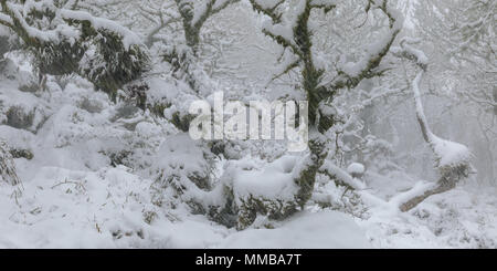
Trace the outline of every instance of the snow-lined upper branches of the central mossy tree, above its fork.
[[[315, 66], [310, 53], [311, 41], [309, 38], [311, 32], [308, 29], [309, 14], [313, 9], [322, 9], [325, 12], [329, 12], [336, 8], [336, 1], [303, 0], [296, 6], [286, 4], [286, 1], [284, 0], [251, 0], [251, 3], [254, 10], [271, 19], [264, 23], [263, 32], [279, 45], [289, 49], [297, 56], [297, 60], [288, 63], [285, 69], [282, 69], [284, 72], [275, 77], [300, 65]], [[319, 88], [318, 92], [320, 93], [320, 96], [326, 97], [327, 95], [331, 95], [330, 93], [342, 87], [352, 88], [363, 79], [379, 76], [384, 72], [377, 70], [401, 31], [403, 27], [403, 17], [400, 11], [388, 4], [388, 0], [369, 0], [367, 10], [370, 9], [380, 10], [387, 15], [389, 19], [389, 30], [383, 37], [378, 39], [378, 42], [369, 45], [366, 55], [360, 61], [340, 67], [338, 71], [339, 76], [336, 80], [330, 83], [319, 82], [315, 88]], [[316, 70], [316, 74], [313, 76], [319, 77], [319, 74], [322, 73], [322, 71], [319, 73], [317, 69], [314, 70]]]

